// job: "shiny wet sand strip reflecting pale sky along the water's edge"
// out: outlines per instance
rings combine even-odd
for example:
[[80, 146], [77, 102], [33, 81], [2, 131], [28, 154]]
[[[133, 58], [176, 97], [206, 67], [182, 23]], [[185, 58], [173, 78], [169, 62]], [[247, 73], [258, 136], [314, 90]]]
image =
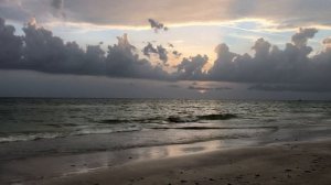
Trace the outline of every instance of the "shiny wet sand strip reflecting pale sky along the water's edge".
[[[220, 149], [226, 149], [229, 144], [233, 143], [226, 143], [224, 141], [209, 141], [192, 144], [137, 148], [77, 155], [22, 159], [4, 163], [2, 165], [4, 173], [1, 174], [1, 177], [6, 178], [6, 182], [22, 182], [39, 178], [70, 176], [102, 168], [115, 167], [128, 162], [132, 163], [145, 160], [159, 160], [211, 152]], [[10, 172], [10, 174], [6, 172]], [[20, 176], [13, 176], [12, 174], [20, 174]]]

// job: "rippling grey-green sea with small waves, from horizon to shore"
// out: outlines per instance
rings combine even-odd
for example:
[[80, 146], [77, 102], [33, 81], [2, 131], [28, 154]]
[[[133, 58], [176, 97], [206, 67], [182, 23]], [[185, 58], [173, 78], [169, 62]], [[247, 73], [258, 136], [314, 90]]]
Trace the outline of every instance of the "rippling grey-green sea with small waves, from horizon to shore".
[[213, 140], [328, 138], [331, 101], [0, 99], [0, 161]]

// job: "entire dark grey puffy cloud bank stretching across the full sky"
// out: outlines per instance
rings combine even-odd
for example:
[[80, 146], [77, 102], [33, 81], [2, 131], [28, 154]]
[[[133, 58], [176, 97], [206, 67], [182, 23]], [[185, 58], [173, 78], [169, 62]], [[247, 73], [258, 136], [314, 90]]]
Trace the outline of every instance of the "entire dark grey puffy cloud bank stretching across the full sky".
[[[88, 45], [83, 50], [75, 42], [67, 42], [34, 23], [23, 28], [24, 35], [18, 36], [12, 25], [0, 19], [0, 69], [30, 69], [52, 74], [73, 74], [109, 76], [121, 78], [146, 78], [159, 80], [212, 80], [261, 84], [252, 89], [263, 90], [302, 90], [288, 85], [305, 85], [311, 91], [330, 90], [331, 47], [330, 39], [322, 41], [324, 50], [313, 54], [307, 43], [313, 39], [317, 29], [300, 29], [285, 48], [273, 45], [265, 39], [258, 39], [252, 46], [254, 55], [236, 54], [222, 43], [216, 46], [217, 58], [206, 68], [209, 57], [196, 55], [184, 57], [167, 70], [169, 52], [166, 47], [148, 43], [139, 54], [128, 36], [118, 37], [118, 43], [103, 51], [100, 45]], [[154, 64], [149, 59], [157, 54], [163, 63]], [[147, 57], [142, 57], [142, 56]], [[276, 88], [264, 84], [286, 84]], [[328, 88], [325, 88], [328, 87]]]

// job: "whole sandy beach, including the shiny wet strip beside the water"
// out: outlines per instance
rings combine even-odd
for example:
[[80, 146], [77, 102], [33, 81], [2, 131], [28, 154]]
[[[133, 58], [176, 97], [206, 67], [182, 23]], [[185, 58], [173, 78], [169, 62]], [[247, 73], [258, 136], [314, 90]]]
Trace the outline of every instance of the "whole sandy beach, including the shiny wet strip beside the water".
[[[11, 183], [19, 184], [24, 182], [23, 184], [50, 185], [100, 185], [109, 184], [109, 182], [111, 182], [110, 184], [223, 184], [226, 182], [238, 184], [241, 183], [239, 181], [246, 179], [247, 182], [248, 178], [248, 182], [256, 184], [267, 181], [261, 176], [276, 177], [268, 179], [274, 182], [274, 184], [287, 181], [296, 182], [293, 184], [305, 184], [305, 181], [302, 182], [299, 177], [321, 176], [331, 173], [331, 160], [327, 160], [331, 159], [330, 139], [276, 142], [265, 145], [250, 143], [250, 146], [247, 143], [243, 143], [236, 148], [226, 148], [225, 145], [220, 148], [217, 142], [220, 141], [132, 149], [125, 152], [113, 151], [25, 159], [10, 162], [9, 170], [13, 172], [19, 170], [17, 173], [30, 173], [25, 174], [25, 179], [15, 179], [15, 182], [11, 181]], [[210, 144], [209, 149], [202, 149], [203, 145], [206, 146], [207, 144]], [[168, 150], [163, 151], [166, 148]], [[164, 155], [166, 153], [167, 155]], [[309, 163], [309, 160], [319, 160], [318, 157], [323, 157], [322, 164], [312, 168], [314, 163]], [[289, 161], [289, 159], [293, 161]], [[273, 165], [270, 163], [273, 160], [276, 164], [284, 161], [287, 161], [287, 164], [279, 165], [276, 167], [278, 168], [276, 171], [274, 163]], [[256, 164], [259, 165], [256, 166]], [[275, 171], [264, 174], [265, 171], [269, 171], [273, 167]], [[312, 173], [314, 172], [313, 170], [318, 173]], [[58, 174], [54, 172], [58, 172]], [[250, 173], [253, 172], [258, 176], [252, 175]], [[196, 176], [196, 174], [199, 175]], [[203, 176], [201, 176], [202, 174]], [[284, 174], [290, 175], [290, 177]], [[277, 175], [282, 176], [277, 177]], [[229, 176], [235, 177], [229, 178]], [[324, 184], [331, 183], [330, 177], [322, 178], [327, 181]], [[7, 182], [9, 182], [8, 179]], [[323, 182], [318, 184], [323, 184]]]

